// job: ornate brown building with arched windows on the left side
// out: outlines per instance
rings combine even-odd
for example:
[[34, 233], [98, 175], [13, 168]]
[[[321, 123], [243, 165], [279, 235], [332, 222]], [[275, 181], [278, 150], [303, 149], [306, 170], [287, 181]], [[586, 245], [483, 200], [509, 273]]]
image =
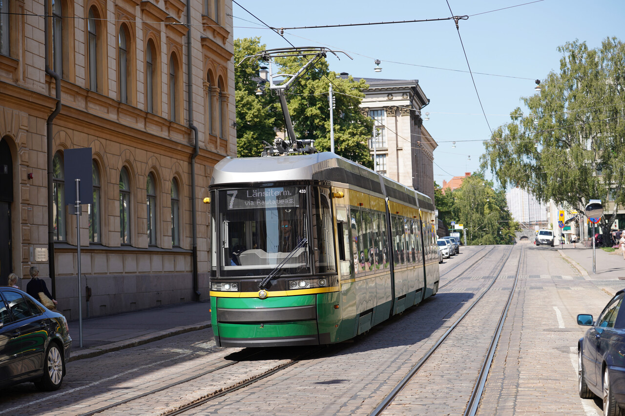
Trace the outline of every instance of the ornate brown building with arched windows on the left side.
[[78, 319], [65, 152], [91, 148], [83, 314], [207, 299], [202, 199], [214, 164], [236, 155], [232, 1], [0, 5], [0, 284], [15, 272], [25, 289], [36, 265]]

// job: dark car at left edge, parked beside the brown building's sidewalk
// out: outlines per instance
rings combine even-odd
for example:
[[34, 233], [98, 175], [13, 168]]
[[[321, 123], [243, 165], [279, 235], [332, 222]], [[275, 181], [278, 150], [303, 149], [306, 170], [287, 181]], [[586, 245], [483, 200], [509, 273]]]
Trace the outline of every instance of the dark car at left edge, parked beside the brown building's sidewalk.
[[61, 387], [72, 339], [68, 321], [30, 295], [0, 287], [0, 387], [32, 381]]

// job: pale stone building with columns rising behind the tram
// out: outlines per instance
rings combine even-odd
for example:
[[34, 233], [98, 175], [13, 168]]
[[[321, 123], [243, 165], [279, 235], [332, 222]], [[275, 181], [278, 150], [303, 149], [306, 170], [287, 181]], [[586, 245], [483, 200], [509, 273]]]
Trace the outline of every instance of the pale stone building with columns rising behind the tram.
[[[349, 74], [343, 72], [342, 77]], [[359, 79], [354, 77], [354, 79]], [[421, 110], [429, 99], [419, 81], [364, 78], [361, 108], [374, 122], [369, 140], [376, 171], [434, 201], [434, 156], [438, 144], [423, 126]]]

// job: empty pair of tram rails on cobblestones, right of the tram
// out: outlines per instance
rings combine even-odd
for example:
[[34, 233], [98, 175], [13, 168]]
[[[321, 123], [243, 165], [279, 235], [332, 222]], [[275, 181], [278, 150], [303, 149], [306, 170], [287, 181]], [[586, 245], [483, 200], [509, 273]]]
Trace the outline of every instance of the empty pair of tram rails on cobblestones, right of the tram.
[[[464, 320], [464, 318], [469, 315], [469, 313], [474, 309], [474, 307], [479, 304], [479, 302], [484, 298], [484, 296], [489, 293], [489, 291], [491, 290], [491, 288], [493, 287], [493, 285], [495, 284], [495, 282], [497, 282], [497, 279], [499, 277], [499, 275], [501, 275], [501, 272], [503, 270], [503, 268], [505, 267], [507, 260], [509, 260], [510, 255], [512, 254], [512, 249], [514, 247], [512, 247], [509, 252], [507, 253], [507, 255], [505, 256], [505, 259], [501, 262], [501, 265], [499, 267], [499, 270], [497, 270], [497, 273], [494, 277], [494, 279], [492, 279], [492, 281], [490, 282], [490, 284], [486, 287], [485, 290], [482, 291], [481, 295], [479, 295], [479, 297], [477, 297], [476, 300], [474, 300], [474, 302], [467, 307], [467, 309], [462, 313], [462, 315], [460, 317], [458, 317], [458, 319], [456, 320], [456, 322], [454, 322], [454, 324], [451, 325], [451, 327], [449, 327], [449, 329], [447, 329], [447, 331], [437, 340], [437, 342], [431, 347], [431, 349], [429, 349], [426, 354], [421, 358], [421, 360], [419, 360], [419, 362], [417, 362], [412, 368], [411, 370], [409, 370], [409, 372], [404, 376], [403, 379], [401, 379], [399, 381], [399, 383], [397, 383], [397, 385], [394, 387], [394, 389], [391, 390], [391, 392], [380, 402], [380, 404], [376, 407], [376, 409], [374, 409], [370, 416], [377, 416], [377, 415], [381, 415], [382, 412], [384, 412], [384, 410], [387, 409], [387, 407], [389, 407], [389, 405], [392, 404], [392, 402], [394, 402], [394, 400], [396, 400], [397, 395], [399, 395], [400, 392], [402, 392], [402, 390], [404, 390], [404, 388], [411, 382], [412, 379], [414, 379], [415, 375], [418, 374], [419, 370], [421, 370], [421, 368], [423, 367], [424, 364], [426, 364], [431, 357], [437, 352], [437, 350], [439, 350], [439, 348], [441, 347], [441, 345], [444, 344], [444, 342], [447, 340], [447, 338], [449, 337], [449, 335], [451, 335], [454, 330], [457, 328], [457, 326], [459, 324], [461, 324], [462, 320]], [[489, 251], [490, 252], [490, 251]], [[484, 255], [486, 255], [487, 253], [485, 253]], [[484, 257], [484, 255], [482, 255], [482, 257]], [[497, 343], [499, 342], [499, 336], [501, 335], [501, 330], [502, 327], [504, 325], [504, 322], [506, 320], [506, 315], [507, 312], [509, 310], [509, 306], [511, 304], [512, 301], [512, 297], [514, 295], [514, 292], [516, 290], [516, 285], [517, 282], [519, 280], [519, 274], [521, 271], [521, 261], [522, 259], [524, 259], [526, 255], [525, 249], [522, 247], [521, 248], [521, 254], [519, 255], [519, 262], [516, 266], [516, 274], [514, 277], [514, 283], [512, 284], [512, 289], [509, 291], [509, 295], [507, 297], [507, 301], [506, 304], [504, 305], [501, 315], [499, 316], [499, 321], [497, 322], [496, 328], [494, 330], [494, 335], [492, 336], [491, 342], [489, 343], [489, 346], [486, 350], [486, 354], [485, 354], [485, 358], [482, 362], [481, 365], [481, 369], [479, 370], [479, 374], [477, 374], [477, 379], [476, 382], [474, 384], [474, 387], [472, 389], [471, 392], [471, 396], [467, 402], [466, 405], [466, 410], [464, 411], [464, 416], [474, 416], [477, 412], [477, 407], [479, 406], [479, 400], [481, 399], [481, 395], [482, 392], [484, 390], [484, 385], [486, 383], [486, 378], [492, 363], [492, 359], [494, 357], [494, 352], [496, 350], [497, 347]], [[477, 261], [481, 260], [481, 258], [476, 260], [475, 262], [473, 262], [473, 264], [477, 263]], [[473, 265], [472, 264], [472, 265]], [[470, 267], [472, 267], [469, 266]], [[467, 268], [467, 270], [469, 269]], [[457, 278], [454, 278], [453, 280], [455, 280]], [[451, 281], [450, 281], [451, 282]]]

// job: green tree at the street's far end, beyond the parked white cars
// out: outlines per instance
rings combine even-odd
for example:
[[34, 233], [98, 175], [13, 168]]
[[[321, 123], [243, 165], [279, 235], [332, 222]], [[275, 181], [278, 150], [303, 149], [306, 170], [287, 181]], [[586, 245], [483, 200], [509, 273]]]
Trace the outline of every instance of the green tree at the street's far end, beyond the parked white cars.
[[492, 182], [477, 173], [464, 179], [453, 194], [453, 210], [464, 225], [467, 244], [512, 244], [520, 227], [507, 209], [503, 189], [495, 191]]

